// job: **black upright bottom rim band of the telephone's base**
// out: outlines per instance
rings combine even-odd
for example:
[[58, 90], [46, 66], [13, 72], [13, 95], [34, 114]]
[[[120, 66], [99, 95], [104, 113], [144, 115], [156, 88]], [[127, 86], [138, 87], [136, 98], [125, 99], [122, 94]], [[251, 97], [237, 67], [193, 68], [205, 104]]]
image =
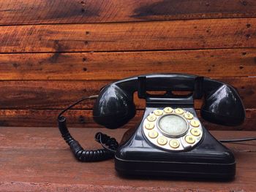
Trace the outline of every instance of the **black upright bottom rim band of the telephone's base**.
[[236, 173], [236, 163], [198, 164], [191, 162], [127, 161], [116, 157], [115, 161], [116, 171], [121, 175], [233, 180]]

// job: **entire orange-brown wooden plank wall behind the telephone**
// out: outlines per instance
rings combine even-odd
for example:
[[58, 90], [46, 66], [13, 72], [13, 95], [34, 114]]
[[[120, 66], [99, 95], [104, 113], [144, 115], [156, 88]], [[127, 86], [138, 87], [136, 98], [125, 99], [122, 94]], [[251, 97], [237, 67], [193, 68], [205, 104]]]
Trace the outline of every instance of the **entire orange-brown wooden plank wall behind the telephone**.
[[[256, 130], [256, 1], [0, 1], [0, 126], [56, 126], [59, 110], [81, 96], [153, 72], [230, 83], [246, 122], [206, 125]], [[126, 127], [143, 114], [144, 101], [135, 101], [138, 114]], [[97, 127], [91, 107], [68, 112], [70, 126]]]

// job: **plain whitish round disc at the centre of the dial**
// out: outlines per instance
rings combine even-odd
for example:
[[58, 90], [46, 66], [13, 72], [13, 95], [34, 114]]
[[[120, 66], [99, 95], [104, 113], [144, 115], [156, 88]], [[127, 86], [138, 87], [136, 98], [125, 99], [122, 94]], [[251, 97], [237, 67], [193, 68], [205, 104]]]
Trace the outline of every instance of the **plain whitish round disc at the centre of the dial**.
[[178, 115], [165, 115], [159, 119], [159, 128], [170, 137], [178, 137], [187, 131], [188, 126]]

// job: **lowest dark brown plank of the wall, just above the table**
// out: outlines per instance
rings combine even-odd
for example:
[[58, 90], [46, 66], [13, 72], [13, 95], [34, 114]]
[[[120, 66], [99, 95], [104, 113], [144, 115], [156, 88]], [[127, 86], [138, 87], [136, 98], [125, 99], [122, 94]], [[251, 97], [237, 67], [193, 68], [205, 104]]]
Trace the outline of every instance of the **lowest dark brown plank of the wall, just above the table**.
[[[61, 110], [0, 110], [0, 126], [42, 126], [56, 127], [57, 116]], [[200, 111], [197, 110], [200, 117]], [[92, 118], [92, 110], [69, 110], [65, 113], [69, 127], [98, 128], [99, 125]], [[137, 110], [135, 118], [122, 128], [135, 128], [143, 117], [143, 110]], [[221, 126], [208, 123], [200, 118], [209, 130], [244, 130], [256, 131], [256, 110], [246, 110], [246, 120], [241, 126]]]

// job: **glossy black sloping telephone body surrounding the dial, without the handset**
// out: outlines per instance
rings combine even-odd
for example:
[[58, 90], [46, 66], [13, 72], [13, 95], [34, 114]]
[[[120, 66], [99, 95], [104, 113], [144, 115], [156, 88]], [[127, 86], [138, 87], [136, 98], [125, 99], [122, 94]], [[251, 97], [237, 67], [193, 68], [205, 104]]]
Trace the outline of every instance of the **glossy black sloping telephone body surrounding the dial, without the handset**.
[[[157, 109], [146, 108], [143, 119], [154, 110]], [[194, 109], [184, 110], [196, 117]], [[197, 145], [184, 147], [181, 150], [169, 150], [167, 147], [165, 149], [155, 145], [146, 138], [143, 132], [144, 126], [142, 121], [137, 129], [129, 130], [124, 134], [115, 154], [115, 168], [119, 174], [214, 180], [234, 178], [236, 160], [232, 151], [217, 141], [203, 125]]]

